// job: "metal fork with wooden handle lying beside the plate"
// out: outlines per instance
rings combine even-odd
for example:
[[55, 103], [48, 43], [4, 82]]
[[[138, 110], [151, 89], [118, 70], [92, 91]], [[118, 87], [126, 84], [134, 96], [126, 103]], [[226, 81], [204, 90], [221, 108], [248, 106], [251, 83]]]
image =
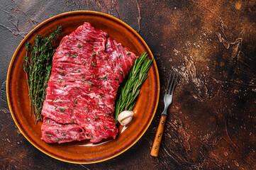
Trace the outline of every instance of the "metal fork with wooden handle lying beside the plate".
[[[176, 79], [174, 81], [175, 77], [176, 77]], [[154, 140], [154, 143], [152, 145], [151, 152], [150, 152], [150, 154], [153, 157], [158, 156], [158, 152], [159, 152], [159, 149], [160, 149], [160, 143], [161, 143], [161, 140], [162, 140], [162, 133], [163, 133], [164, 127], [165, 127], [165, 120], [167, 118], [167, 110], [168, 110], [169, 105], [172, 103], [173, 91], [175, 89], [175, 85], [176, 85], [178, 77], [179, 77], [179, 74], [177, 74], [176, 72], [174, 72], [173, 76], [172, 76], [172, 72], [169, 75], [168, 85], [167, 85], [167, 89], [165, 91], [165, 97], [164, 97], [165, 110], [161, 114], [160, 123], [159, 123], [158, 128], [157, 128], [157, 134], [155, 135], [155, 140]], [[170, 82], [171, 79], [172, 79], [172, 83], [169, 85], [169, 82]]]

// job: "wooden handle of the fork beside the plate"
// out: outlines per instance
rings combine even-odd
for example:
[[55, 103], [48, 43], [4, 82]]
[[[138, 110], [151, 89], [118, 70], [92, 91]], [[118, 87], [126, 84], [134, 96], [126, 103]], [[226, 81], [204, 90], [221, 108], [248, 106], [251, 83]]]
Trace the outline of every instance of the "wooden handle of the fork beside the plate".
[[158, 152], [159, 152], [160, 144], [161, 144], [161, 140], [162, 140], [162, 132], [164, 132], [164, 128], [165, 128], [166, 118], [167, 118], [167, 115], [161, 115], [160, 123], [159, 123], [158, 128], [157, 128], [157, 134], [155, 135], [155, 140], [154, 140], [154, 143], [152, 145], [151, 152], [150, 152], [150, 154], [153, 157], [158, 156]]

